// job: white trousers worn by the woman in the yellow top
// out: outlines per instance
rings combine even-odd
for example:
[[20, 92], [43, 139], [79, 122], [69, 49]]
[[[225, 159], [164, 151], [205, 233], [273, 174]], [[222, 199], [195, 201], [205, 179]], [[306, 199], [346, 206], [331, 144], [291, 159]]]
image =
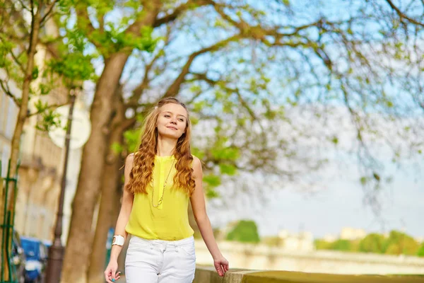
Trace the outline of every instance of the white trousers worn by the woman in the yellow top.
[[194, 238], [146, 240], [131, 236], [126, 252], [126, 283], [192, 283], [196, 271]]

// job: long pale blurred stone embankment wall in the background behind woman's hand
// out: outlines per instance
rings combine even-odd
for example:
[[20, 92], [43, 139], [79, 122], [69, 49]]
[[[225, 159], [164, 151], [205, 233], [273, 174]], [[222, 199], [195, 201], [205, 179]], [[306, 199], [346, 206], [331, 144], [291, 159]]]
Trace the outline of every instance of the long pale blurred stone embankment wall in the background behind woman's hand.
[[[212, 265], [205, 244], [196, 240], [196, 262]], [[334, 251], [298, 252], [263, 245], [218, 242], [231, 268], [248, 270], [287, 270], [333, 274], [422, 274], [424, 258]]]

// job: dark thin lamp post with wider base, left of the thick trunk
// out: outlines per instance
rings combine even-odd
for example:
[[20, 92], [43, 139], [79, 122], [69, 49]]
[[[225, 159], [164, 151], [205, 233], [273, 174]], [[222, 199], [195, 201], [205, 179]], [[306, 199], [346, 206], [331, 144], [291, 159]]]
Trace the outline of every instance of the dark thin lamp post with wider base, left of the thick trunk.
[[59, 196], [59, 207], [57, 209], [56, 225], [54, 227], [54, 240], [52, 246], [49, 248], [49, 258], [47, 260], [47, 283], [58, 283], [60, 282], [61, 267], [64, 260], [64, 246], [61, 244], [62, 234], [62, 219], [64, 209], [64, 196], [66, 187], [66, 170], [68, 168], [68, 156], [69, 156], [69, 144], [71, 141], [71, 126], [72, 126], [72, 115], [73, 106], [75, 105], [75, 89], [72, 88], [69, 91], [71, 98], [71, 106], [69, 107], [68, 120], [66, 122], [66, 136], [65, 136], [65, 160], [64, 170], [61, 178], [60, 196]]

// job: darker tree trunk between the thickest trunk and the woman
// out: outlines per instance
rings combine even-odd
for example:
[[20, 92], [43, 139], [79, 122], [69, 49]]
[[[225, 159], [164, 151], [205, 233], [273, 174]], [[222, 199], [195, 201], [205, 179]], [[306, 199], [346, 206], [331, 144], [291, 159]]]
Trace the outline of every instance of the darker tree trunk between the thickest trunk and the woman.
[[121, 93], [117, 94], [117, 115], [114, 116], [112, 121], [112, 133], [110, 134], [109, 143], [107, 146], [108, 154], [105, 160], [104, 178], [102, 180], [102, 196], [100, 200], [100, 209], [98, 212], [98, 221], [95, 229], [95, 236], [93, 241], [93, 251], [90, 257], [90, 267], [88, 269], [88, 282], [89, 283], [103, 283], [105, 282], [105, 258], [106, 258], [106, 242], [107, 231], [116, 224], [119, 207], [121, 205], [120, 199], [122, 196], [122, 175], [123, 171], [119, 171], [124, 158], [122, 154], [112, 151], [112, 144], [115, 142], [122, 144], [124, 141], [124, 130], [122, 122], [124, 117], [124, 105], [122, 103]]

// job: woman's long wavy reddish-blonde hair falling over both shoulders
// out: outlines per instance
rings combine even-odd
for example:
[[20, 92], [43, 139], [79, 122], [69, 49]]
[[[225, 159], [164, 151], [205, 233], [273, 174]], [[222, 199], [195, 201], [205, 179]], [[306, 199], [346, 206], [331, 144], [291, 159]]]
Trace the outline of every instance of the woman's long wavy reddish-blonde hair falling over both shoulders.
[[193, 156], [190, 150], [190, 138], [192, 125], [189, 120], [189, 111], [184, 103], [177, 98], [163, 98], [151, 109], [143, 122], [141, 144], [139, 149], [134, 152], [134, 166], [129, 174], [129, 182], [125, 189], [129, 192], [147, 194], [146, 188], [153, 178], [153, 167], [155, 166], [155, 154], [158, 150], [158, 128], [156, 127], [160, 108], [168, 103], [182, 105], [187, 111], [187, 122], [185, 133], [179, 137], [177, 146], [174, 149], [174, 156], [177, 159], [175, 168], [177, 173], [174, 176], [174, 185], [172, 188], [179, 188], [191, 196], [194, 192], [195, 182], [192, 176]]

